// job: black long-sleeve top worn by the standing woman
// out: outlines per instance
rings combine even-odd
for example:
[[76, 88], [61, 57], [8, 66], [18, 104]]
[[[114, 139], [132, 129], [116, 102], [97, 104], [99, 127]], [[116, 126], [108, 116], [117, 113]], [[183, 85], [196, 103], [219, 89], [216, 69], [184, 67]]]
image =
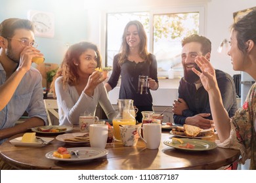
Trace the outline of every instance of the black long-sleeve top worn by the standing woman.
[[153, 99], [149, 88], [148, 94], [137, 93], [139, 75], [148, 76], [156, 82], [158, 82], [158, 66], [156, 62], [156, 56], [150, 54], [152, 58], [151, 63], [149, 61], [142, 61], [135, 63], [135, 61], [125, 60], [119, 64], [119, 54], [114, 57], [113, 71], [108, 84], [112, 88], [115, 88], [121, 75], [121, 85], [119, 91], [119, 99], [133, 99], [133, 105], [135, 106], [152, 106]]

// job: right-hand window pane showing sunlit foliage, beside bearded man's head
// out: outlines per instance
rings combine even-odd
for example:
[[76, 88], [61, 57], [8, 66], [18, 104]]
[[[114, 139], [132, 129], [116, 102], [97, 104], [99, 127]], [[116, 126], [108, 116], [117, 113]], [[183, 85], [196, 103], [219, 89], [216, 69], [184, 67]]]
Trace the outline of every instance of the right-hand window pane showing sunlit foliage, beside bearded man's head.
[[199, 13], [155, 14], [153, 24], [153, 53], [158, 71], [168, 71], [171, 67], [182, 69], [181, 41], [199, 33]]

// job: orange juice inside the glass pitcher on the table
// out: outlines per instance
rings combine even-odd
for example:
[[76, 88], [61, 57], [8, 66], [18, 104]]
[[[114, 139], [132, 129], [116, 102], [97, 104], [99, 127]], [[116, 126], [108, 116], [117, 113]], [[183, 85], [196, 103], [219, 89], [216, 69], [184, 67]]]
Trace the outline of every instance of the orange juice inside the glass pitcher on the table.
[[131, 119], [131, 120], [114, 119], [112, 122], [113, 122], [113, 127], [114, 127], [114, 137], [115, 137], [116, 141], [119, 141], [119, 142], [121, 142], [119, 125], [135, 125], [136, 124], [135, 119]]

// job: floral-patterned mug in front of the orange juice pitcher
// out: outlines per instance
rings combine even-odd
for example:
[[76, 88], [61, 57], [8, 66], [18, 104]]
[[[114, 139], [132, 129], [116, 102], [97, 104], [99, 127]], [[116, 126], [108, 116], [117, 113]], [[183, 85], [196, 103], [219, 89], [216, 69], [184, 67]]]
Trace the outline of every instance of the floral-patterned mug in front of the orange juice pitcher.
[[123, 125], [119, 126], [121, 140], [123, 142], [123, 146], [136, 146], [139, 134], [138, 134], [138, 126], [137, 125]]

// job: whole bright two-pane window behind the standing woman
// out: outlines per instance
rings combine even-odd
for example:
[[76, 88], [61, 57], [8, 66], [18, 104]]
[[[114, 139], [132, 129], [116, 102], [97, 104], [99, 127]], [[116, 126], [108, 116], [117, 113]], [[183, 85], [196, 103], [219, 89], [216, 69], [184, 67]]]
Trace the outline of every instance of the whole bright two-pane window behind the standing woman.
[[139, 20], [148, 34], [148, 50], [158, 61], [158, 75], [170, 67], [182, 70], [181, 41], [192, 33], [200, 33], [199, 11], [109, 13], [106, 20], [106, 66], [112, 66], [119, 52], [125, 25], [131, 20]]

